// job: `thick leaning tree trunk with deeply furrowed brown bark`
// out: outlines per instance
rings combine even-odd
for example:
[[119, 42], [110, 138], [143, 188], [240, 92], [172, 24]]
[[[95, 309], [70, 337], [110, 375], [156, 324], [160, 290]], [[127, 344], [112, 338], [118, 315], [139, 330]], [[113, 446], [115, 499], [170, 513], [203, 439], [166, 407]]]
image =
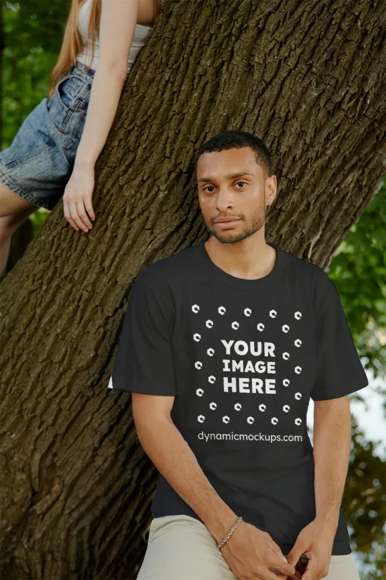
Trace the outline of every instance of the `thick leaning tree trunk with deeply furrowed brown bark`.
[[134, 579], [157, 472], [107, 388], [131, 284], [207, 237], [193, 155], [273, 154], [267, 241], [325, 267], [385, 173], [385, 0], [165, 0], [97, 162], [85, 234], [60, 202], [0, 286], [0, 576]]

